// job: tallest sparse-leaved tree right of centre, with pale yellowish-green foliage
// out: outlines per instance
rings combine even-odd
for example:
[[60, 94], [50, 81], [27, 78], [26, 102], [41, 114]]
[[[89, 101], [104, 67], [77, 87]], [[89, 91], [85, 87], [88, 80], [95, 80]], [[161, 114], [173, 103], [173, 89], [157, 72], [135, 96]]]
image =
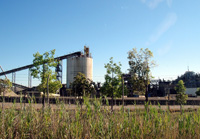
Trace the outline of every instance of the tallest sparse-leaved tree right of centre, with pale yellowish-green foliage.
[[129, 82], [133, 92], [145, 94], [151, 77], [150, 69], [155, 66], [152, 58], [153, 53], [148, 48], [141, 48], [139, 52], [136, 48], [133, 48], [128, 52], [129, 72], [131, 74]]

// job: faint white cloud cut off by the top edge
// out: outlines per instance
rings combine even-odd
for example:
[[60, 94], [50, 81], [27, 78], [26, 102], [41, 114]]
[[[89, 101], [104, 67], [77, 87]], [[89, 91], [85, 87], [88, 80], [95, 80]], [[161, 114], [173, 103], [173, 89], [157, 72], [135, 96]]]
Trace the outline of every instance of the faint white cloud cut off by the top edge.
[[146, 4], [150, 9], [155, 9], [161, 2], [166, 1], [167, 5], [171, 7], [172, 0], [140, 0], [142, 3]]

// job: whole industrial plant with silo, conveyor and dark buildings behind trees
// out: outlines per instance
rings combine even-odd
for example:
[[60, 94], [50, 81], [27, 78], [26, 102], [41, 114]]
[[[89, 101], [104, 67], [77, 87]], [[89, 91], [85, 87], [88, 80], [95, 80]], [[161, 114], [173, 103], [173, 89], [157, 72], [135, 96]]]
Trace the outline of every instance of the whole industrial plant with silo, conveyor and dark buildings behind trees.
[[[63, 84], [63, 87], [60, 89], [60, 96], [69, 96], [69, 93], [66, 91], [70, 88], [70, 85], [73, 83], [76, 75], [81, 72], [85, 75], [87, 79], [91, 81], [94, 88], [96, 89], [96, 96], [100, 96], [100, 83], [93, 82], [93, 58], [90, 53], [89, 47], [84, 46], [83, 52], [75, 52], [67, 55], [63, 55], [60, 57], [56, 57], [55, 60], [58, 61], [58, 65], [55, 69], [57, 73], [57, 80], [60, 80], [62, 83], [63, 76], [63, 60], [66, 60], [66, 84]], [[40, 92], [37, 90], [37, 87], [32, 87], [32, 77], [30, 74], [30, 69], [33, 67], [33, 64], [26, 65], [23, 67], [19, 67], [16, 69], [12, 69], [9, 71], [2, 71], [0, 76], [6, 76], [7, 74], [12, 74], [12, 84], [13, 84], [13, 92], [20, 94], [21, 92], [29, 94], [29, 96], [40, 96]], [[29, 69], [28, 73], [28, 87], [24, 85], [17, 84], [16, 81], [16, 72]], [[125, 87], [128, 89], [127, 97], [138, 97], [138, 95], [134, 94], [131, 89], [131, 83], [129, 83], [129, 79], [131, 75], [127, 75]], [[187, 71], [181, 77], [178, 77], [174, 81], [165, 81], [165, 80], [151, 80], [148, 85], [148, 94], [149, 97], [164, 97], [169, 94], [176, 94], [174, 90], [177, 82], [182, 79], [186, 85], [186, 94], [190, 96], [195, 96], [195, 91], [200, 87], [200, 75], [195, 74], [194, 72]]]

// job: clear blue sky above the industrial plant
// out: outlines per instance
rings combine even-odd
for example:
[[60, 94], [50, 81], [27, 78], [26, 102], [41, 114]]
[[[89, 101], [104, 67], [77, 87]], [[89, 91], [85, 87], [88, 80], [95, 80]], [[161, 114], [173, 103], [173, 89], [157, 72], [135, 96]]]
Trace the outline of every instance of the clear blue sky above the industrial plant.
[[[174, 79], [188, 66], [199, 73], [199, 44], [199, 0], [0, 0], [4, 70], [32, 63], [37, 51], [61, 56], [87, 45], [94, 81], [103, 81], [110, 57], [127, 72], [127, 52], [149, 48], [158, 64], [152, 75]], [[28, 84], [27, 73], [17, 72], [16, 82]]]

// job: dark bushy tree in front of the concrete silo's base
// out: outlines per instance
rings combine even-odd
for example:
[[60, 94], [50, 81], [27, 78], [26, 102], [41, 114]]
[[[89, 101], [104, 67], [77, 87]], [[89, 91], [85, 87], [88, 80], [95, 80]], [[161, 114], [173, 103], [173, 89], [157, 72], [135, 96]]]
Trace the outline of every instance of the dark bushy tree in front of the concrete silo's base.
[[94, 92], [93, 82], [87, 79], [81, 72], [78, 72], [70, 87], [75, 96], [88, 96]]

